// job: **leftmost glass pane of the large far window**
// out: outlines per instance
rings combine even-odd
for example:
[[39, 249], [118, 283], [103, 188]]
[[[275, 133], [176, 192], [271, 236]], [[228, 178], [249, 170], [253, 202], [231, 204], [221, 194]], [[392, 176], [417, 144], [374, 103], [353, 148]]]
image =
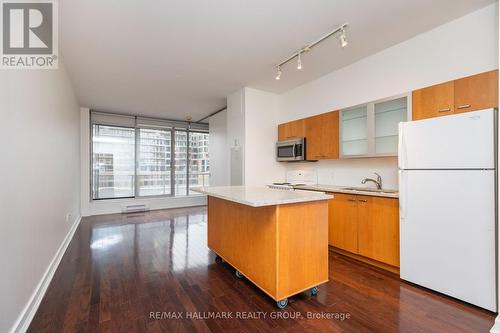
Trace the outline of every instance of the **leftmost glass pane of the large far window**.
[[92, 126], [92, 198], [134, 196], [135, 130]]

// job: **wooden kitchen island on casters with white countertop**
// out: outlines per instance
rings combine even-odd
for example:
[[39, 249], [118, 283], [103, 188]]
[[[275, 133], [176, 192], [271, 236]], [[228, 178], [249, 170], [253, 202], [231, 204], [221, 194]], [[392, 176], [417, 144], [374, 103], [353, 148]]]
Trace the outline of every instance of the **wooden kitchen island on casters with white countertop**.
[[246, 186], [198, 192], [208, 195], [208, 247], [279, 308], [328, 281], [331, 195]]

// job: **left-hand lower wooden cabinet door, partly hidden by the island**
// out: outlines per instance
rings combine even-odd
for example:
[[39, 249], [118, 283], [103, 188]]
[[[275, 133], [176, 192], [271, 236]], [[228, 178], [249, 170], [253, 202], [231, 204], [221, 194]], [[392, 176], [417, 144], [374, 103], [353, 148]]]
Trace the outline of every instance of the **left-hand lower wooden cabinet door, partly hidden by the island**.
[[333, 193], [328, 203], [328, 243], [349, 252], [358, 252], [356, 196]]

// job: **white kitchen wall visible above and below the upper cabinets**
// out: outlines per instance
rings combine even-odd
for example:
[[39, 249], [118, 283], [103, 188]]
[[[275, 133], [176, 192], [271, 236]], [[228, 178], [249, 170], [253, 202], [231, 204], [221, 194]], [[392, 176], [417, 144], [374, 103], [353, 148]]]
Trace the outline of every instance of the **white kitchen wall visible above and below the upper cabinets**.
[[[498, 3], [425, 32], [281, 95], [279, 122], [402, 94], [498, 68]], [[373, 171], [397, 186], [394, 158], [320, 161], [320, 182], [359, 185]], [[299, 167], [287, 164], [287, 169]], [[334, 172], [335, 176], [325, 177]]]

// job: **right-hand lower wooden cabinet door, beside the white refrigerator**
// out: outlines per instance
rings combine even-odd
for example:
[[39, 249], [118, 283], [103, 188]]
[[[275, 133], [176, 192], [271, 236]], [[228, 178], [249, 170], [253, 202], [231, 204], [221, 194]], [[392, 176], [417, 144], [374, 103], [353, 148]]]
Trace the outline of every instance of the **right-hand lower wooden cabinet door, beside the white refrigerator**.
[[358, 196], [358, 254], [399, 267], [398, 199]]

